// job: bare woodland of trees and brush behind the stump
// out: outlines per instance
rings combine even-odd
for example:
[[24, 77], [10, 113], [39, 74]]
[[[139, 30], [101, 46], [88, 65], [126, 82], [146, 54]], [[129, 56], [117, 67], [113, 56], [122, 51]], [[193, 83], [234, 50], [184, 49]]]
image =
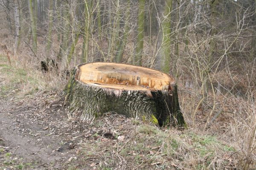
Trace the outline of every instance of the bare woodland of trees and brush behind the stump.
[[255, 168], [255, 0], [0, 0], [0, 40], [11, 67], [42, 79], [23, 94], [60, 91], [82, 62], [173, 75], [188, 128], [235, 147], [233, 166]]

